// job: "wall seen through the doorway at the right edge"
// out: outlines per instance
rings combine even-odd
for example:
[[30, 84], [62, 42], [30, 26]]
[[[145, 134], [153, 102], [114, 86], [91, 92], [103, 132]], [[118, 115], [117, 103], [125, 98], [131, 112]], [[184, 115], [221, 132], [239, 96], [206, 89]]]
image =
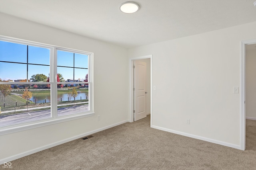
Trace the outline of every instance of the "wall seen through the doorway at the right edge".
[[[251, 48], [247, 48], [252, 46]], [[256, 44], [246, 45], [246, 118], [256, 120]]]

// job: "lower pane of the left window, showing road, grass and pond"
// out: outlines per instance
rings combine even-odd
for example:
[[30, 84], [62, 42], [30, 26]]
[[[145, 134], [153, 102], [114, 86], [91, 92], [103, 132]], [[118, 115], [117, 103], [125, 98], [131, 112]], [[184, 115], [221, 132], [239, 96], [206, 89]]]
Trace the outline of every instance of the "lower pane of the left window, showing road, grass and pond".
[[[3, 89], [9, 90], [3, 90]], [[0, 126], [51, 117], [50, 88], [46, 84], [0, 84]]]

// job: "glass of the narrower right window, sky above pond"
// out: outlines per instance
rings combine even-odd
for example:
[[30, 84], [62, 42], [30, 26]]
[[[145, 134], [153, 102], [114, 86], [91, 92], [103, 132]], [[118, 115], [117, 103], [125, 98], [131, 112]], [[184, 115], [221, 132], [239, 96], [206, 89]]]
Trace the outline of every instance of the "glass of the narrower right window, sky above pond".
[[57, 72], [58, 116], [88, 111], [88, 55], [57, 49]]

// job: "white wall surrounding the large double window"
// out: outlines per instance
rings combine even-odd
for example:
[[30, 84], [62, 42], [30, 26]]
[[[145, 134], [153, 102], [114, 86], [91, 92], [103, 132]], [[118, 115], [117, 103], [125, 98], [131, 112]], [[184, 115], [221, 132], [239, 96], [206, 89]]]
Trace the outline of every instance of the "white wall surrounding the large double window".
[[0, 160], [10, 161], [81, 134], [128, 121], [127, 49], [6, 14], [0, 15], [0, 23], [0, 35], [93, 52], [95, 111], [93, 117], [0, 136]]

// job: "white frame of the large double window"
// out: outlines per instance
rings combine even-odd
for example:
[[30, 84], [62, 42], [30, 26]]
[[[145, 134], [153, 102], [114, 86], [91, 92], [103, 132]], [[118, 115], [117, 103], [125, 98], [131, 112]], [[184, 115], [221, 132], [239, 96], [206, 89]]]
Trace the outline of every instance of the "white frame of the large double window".
[[[37, 127], [52, 125], [52, 124], [56, 124], [56, 123], [71, 121], [74, 119], [80, 119], [80, 118], [90, 117], [90, 116], [95, 115], [94, 99], [93, 99], [93, 55], [94, 55], [94, 53], [80, 51], [80, 50], [76, 50], [76, 49], [58, 47], [58, 46], [48, 45], [48, 44], [43, 44], [43, 43], [37, 43], [37, 42], [33, 42], [33, 41], [26, 41], [26, 40], [22, 40], [22, 39], [16, 39], [16, 38], [12, 38], [12, 37], [1, 36], [1, 35], [0, 35], [0, 41], [7, 41], [7, 42], [11, 42], [11, 43], [31, 45], [31, 46], [50, 49], [50, 73], [51, 73], [49, 82], [38, 82], [38, 84], [51, 84], [51, 118], [40, 119], [40, 120], [36, 120], [36, 121], [30, 121], [30, 122], [24, 122], [24, 123], [0, 127], [0, 135], [6, 135], [9, 133], [24, 131], [27, 129], [34, 129]], [[57, 88], [56, 89], [52, 88], [52, 87], [57, 87], [57, 84], [59, 84], [59, 82], [57, 82], [57, 50], [88, 55], [88, 82], [86, 82], [86, 84], [89, 85], [89, 91], [88, 91], [89, 111], [74, 113], [74, 114], [70, 114], [70, 115], [58, 116]], [[14, 82], [4, 82], [1, 84], [13, 84], [13, 83]], [[28, 84], [28, 82], [19, 82], [19, 84]], [[52, 102], [52, 101], [55, 101], [55, 102]]]

